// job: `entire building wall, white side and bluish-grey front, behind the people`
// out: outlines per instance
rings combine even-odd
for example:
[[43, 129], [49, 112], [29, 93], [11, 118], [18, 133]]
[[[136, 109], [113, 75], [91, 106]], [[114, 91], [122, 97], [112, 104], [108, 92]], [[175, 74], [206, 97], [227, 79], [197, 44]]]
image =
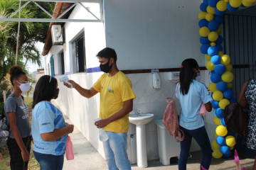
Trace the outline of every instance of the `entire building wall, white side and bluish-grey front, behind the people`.
[[[199, 66], [205, 66], [205, 57], [200, 52], [198, 12], [201, 0], [107, 0], [104, 1], [105, 23], [66, 23], [65, 73], [80, 86], [90, 89], [100, 73], [73, 74], [73, 57], [71, 42], [85, 33], [85, 52], [87, 68], [99, 66], [95, 55], [104, 47], [113, 47], [117, 52], [119, 69], [161, 69], [180, 67], [181, 62], [192, 57]], [[94, 4], [95, 5], [95, 4]], [[86, 11], [77, 6], [70, 18], [86, 16]], [[58, 50], [49, 52], [55, 54]], [[160, 73], [161, 89], [153, 89], [151, 73], [127, 74], [137, 96], [132, 113], [154, 113], [154, 119], [163, 118], [166, 108], [166, 97], [174, 96], [176, 84], [167, 80], [167, 73]], [[56, 77], [58, 78], [58, 77]], [[208, 71], [201, 72], [201, 80], [209, 84]], [[68, 115], [74, 125], [85, 135], [102, 156], [102, 142], [93, 119], [97, 118], [100, 106], [100, 95], [92, 98], [82, 97], [75, 89], [67, 89], [59, 82], [60, 95], [57, 100], [63, 113]], [[179, 109], [178, 101], [176, 105]], [[178, 110], [179, 111], [179, 110]], [[209, 115], [209, 116], [208, 116]], [[206, 116], [206, 128], [210, 140], [214, 137], [212, 115]], [[136, 163], [134, 154], [134, 125], [128, 132], [129, 159]], [[156, 125], [146, 125], [148, 159], [158, 159]], [[132, 145], [131, 145], [132, 143]], [[197, 150], [193, 143], [191, 150]], [[103, 156], [104, 157], [104, 156]]]

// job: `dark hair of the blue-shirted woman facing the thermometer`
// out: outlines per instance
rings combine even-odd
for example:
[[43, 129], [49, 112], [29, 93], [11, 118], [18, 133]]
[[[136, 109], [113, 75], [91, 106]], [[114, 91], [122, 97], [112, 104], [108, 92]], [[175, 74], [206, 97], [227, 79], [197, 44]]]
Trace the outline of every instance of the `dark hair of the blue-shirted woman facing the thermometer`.
[[42, 76], [36, 83], [35, 91], [33, 93], [32, 108], [41, 101], [50, 101], [55, 95], [57, 79], [48, 75]]

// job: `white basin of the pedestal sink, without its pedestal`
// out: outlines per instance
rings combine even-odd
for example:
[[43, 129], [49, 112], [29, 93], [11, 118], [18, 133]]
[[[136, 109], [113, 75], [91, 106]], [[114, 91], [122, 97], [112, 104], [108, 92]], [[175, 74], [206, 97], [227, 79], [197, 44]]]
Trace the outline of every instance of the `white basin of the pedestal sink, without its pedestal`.
[[154, 114], [152, 113], [142, 113], [141, 115], [129, 115], [129, 122], [134, 125], [146, 125], [154, 119]]

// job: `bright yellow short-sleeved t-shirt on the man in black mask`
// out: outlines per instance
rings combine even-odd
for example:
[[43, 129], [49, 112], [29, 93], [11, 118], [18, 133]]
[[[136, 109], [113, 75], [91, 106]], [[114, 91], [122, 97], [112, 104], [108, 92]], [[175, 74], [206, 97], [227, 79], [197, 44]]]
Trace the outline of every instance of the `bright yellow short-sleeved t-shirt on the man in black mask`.
[[[123, 72], [117, 72], [113, 77], [108, 73], [102, 74], [92, 86], [100, 92], [100, 118], [109, 118], [123, 108], [123, 102], [136, 98], [132, 91], [132, 82]], [[129, 114], [105, 126], [109, 132], [127, 132], [129, 128]]]

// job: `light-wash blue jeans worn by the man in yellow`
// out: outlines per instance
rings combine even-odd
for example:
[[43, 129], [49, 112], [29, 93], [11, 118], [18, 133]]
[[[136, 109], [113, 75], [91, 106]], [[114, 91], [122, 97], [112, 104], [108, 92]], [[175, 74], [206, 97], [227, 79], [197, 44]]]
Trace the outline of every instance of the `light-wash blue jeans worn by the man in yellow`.
[[127, 133], [107, 132], [108, 140], [103, 142], [107, 167], [110, 170], [130, 170], [127, 157]]

